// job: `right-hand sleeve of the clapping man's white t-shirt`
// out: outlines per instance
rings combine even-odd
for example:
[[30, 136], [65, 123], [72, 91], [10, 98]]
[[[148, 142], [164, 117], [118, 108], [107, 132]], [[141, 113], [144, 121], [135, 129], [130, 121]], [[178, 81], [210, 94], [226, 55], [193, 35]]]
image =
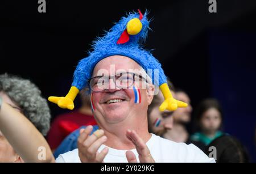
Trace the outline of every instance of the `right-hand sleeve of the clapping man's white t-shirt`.
[[200, 148], [196, 147], [193, 144], [190, 144], [188, 147], [188, 159], [191, 163], [215, 163], [213, 158], [209, 158]]

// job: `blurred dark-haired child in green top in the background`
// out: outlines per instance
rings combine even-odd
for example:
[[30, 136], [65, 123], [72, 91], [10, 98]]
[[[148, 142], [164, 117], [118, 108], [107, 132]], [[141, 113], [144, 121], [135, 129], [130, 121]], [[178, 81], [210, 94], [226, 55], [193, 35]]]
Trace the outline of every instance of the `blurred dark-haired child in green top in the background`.
[[[191, 141], [203, 143], [206, 147], [214, 139], [220, 137], [224, 133], [220, 131], [222, 124], [222, 109], [216, 99], [205, 99], [199, 104], [196, 113], [196, 123], [200, 131], [191, 135]], [[200, 146], [198, 146], [200, 147]], [[205, 147], [200, 147], [205, 151]]]

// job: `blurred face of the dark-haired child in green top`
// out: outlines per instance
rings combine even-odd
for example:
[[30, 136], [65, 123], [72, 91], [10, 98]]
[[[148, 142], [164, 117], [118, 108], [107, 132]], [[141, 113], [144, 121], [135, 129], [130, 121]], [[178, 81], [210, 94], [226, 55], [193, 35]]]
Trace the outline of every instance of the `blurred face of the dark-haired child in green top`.
[[215, 108], [210, 108], [203, 113], [201, 129], [207, 133], [216, 132], [221, 125], [221, 114]]

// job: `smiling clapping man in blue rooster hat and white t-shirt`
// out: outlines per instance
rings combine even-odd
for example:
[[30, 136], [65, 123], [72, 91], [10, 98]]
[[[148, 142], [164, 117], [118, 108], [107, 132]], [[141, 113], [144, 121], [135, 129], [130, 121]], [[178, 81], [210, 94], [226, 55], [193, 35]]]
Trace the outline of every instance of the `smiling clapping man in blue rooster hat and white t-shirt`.
[[[49, 97], [59, 107], [73, 109], [76, 95], [89, 87], [92, 111], [100, 127], [92, 135], [92, 126], [82, 129], [78, 149], [60, 155], [56, 162], [214, 162], [194, 145], [148, 133], [147, 108], [158, 86], [164, 96], [161, 111], [187, 104], [172, 97], [160, 63], [138, 44], [146, 38], [147, 29], [146, 14], [143, 16], [140, 11], [122, 18], [94, 42], [89, 57], [80, 61], [68, 95]], [[152, 80], [143, 73], [150, 68], [159, 73]], [[4, 114], [2, 117], [6, 118]], [[0, 122], [3, 118], [0, 115]], [[8, 121], [5, 123], [9, 125]], [[9, 133], [11, 128], [4, 129]], [[12, 143], [18, 142], [13, 139]], [[32, 142], [33, 147], [43, 143], [39, 138]], [[17, 148], [23, 152], [20, 146]], [[34, 154], [27, 152], [25, 156], [31, 159]]]

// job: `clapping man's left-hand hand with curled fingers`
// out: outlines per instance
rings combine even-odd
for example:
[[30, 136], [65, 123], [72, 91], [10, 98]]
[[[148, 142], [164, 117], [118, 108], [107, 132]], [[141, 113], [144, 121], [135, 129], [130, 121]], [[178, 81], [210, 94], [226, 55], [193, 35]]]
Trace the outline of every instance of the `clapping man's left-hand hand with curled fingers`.
[[77, 140], [79, 158], [82, 163], [102, 163], [108, 154], [108, 147], [105, 147], [100, 153], [97, 152], [98, 148], [107, 140], [107, 137], [104, 136], [104, 130], [96, 130], [92, 135], [89, 135], [92, 129], [92, 126], [81, 129]]

